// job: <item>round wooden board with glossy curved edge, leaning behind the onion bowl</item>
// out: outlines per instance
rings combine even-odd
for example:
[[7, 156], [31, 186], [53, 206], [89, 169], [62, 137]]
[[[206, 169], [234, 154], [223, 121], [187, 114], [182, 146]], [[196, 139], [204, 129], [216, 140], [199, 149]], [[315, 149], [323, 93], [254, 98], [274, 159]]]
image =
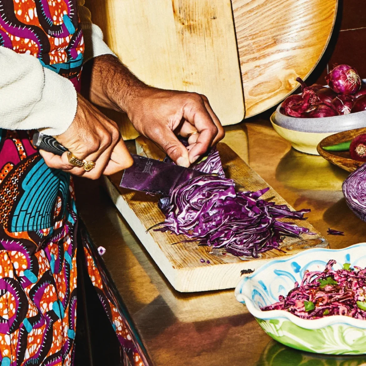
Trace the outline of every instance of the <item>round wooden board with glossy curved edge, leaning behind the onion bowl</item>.
[[323, 55], [337, 0], [232, 0], [245, 117], [277, 105]]

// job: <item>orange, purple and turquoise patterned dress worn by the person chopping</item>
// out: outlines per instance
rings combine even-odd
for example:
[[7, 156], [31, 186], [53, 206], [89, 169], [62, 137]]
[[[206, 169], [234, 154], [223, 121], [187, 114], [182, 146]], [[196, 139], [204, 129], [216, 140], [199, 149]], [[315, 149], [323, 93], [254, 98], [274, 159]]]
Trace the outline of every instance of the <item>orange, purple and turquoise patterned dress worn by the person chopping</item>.
[[[76, 0], [0, 0], [0, 46], [38, 57], [79, 90]], [[1, 366], [73, 364], [78, 222], [70, 175], [47, 167], [29, 132], [0, 129]], [[109, 320], [131, 364], [142, 366], [85, 229], [80, 236]]]

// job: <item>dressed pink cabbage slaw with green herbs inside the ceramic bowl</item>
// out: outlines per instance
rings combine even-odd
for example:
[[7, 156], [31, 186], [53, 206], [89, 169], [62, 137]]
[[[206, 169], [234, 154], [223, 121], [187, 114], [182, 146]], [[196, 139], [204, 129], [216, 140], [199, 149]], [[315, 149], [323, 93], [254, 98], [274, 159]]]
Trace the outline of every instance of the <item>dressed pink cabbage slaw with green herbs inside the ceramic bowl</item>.
[[303, 319], [347, 315], [366, 320], [366, 269], [345, 263], [333, 270], [335, 263], [330, 260], [323, 272], [306, 270], [300, 286], [295, 282], [286, 297], [261, 310], [287, 310]]

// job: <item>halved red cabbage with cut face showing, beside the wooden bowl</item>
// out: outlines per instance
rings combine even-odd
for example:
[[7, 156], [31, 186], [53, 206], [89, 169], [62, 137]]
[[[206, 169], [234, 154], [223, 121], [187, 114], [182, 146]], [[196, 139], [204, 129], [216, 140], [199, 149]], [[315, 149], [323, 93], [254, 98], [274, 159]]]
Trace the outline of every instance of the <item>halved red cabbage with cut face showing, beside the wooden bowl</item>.
[[361, 220], [366, 221], [366, 164], [361, 165], [343, 182], [342, 191], [347, 206]]

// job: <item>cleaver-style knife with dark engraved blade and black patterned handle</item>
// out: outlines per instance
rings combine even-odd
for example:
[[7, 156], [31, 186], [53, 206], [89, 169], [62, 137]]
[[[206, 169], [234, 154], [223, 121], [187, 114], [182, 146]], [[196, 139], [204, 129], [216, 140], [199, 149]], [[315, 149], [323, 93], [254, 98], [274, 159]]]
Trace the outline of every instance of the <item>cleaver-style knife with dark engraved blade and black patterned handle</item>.
[[[68, 150], [55, 138], [36, 131], [33, 145], [61, 156]], [[168, 196], [169, 192], [192, 178], [205, 175], [198, 170], [180, 167], [172, 163], [131, 154], [134, 164], [124, 169], [120, 187], [135, 191]]]

